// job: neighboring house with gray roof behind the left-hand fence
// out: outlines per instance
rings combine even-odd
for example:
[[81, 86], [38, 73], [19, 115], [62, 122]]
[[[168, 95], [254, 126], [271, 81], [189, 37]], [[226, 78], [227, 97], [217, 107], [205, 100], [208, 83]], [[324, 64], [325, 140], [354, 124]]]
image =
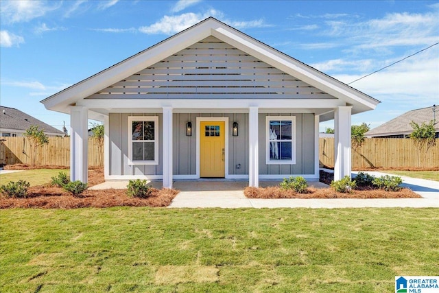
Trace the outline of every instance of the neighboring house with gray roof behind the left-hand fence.
[[16, 108], [0, 106], [0, 137], [20, 137], [30, 126], [38, 126], [49, 137], [64, 136], [64, 132], [45, 124]]

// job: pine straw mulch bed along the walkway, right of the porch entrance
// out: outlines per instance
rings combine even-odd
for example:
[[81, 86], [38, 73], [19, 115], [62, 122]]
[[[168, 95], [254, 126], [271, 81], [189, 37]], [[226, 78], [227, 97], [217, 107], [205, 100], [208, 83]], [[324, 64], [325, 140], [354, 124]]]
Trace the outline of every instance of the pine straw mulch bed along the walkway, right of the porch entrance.
[[379, 189], [354, 190], [351, 194], [342, 194], [331, 188], [316, 189], [308, 187], [306, 194], [298, 194], [292, 190], [280, 187], [246, 187], [244, 195], [247, 198], [422, 198], [408, 188], [400, 191], [384, 191]]

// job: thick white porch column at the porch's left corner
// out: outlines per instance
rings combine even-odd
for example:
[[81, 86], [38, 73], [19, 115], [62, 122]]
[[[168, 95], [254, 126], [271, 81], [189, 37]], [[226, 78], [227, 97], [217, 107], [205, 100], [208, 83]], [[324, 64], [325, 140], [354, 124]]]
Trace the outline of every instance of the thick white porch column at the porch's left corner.
[[88, 129], [87, 108], [70, 108], [70, 180], [87, 183], [88, 168]]

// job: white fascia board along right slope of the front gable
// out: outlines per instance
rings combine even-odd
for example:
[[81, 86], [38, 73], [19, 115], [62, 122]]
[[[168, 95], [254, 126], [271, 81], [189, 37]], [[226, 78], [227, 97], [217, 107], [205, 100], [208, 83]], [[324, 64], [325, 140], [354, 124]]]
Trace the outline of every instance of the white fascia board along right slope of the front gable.
[[236, 34], [232, 30], [224, 27], [218, 27], [212, 31], [212, 35], [219, 40], [223, 40], [229, 45], [233, 45], [263, 62], [288, 73], [303, 82], [307, 82], [316, 88], [333, 95], [334, 97], [345, 99], [345, 102], [355, 101], [370, 108], [375, 109], [379, 101], [369, 97], [368, 95], [352, 89], [350, 86], [343, 84], [333, 78], [330, 78], [324, 73], [312, 69], [307, 65], [302, 64], [292, 58], [281, 54], [280, 52], [257, 42], [256, 40], [245, 36], [244, 34]]

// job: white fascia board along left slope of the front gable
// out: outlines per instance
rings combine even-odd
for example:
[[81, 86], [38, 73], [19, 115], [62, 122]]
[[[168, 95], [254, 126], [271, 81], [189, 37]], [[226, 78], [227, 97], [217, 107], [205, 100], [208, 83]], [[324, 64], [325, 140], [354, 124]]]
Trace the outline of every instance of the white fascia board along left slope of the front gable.
[[67, 106], [69, 104], [78, 103], [81, 99], [93, 95], [106, 87], [127, 78], [128, 76], [154, 65], [172, 54], [181, 51], [197, 43], [198, 41], [210, 36], [210, 30], [206, 30], [204, 25], [192, 27], [190, 30], [186, 30], [171, 36], [167, 40], [154, 45], [153, 47], [146, 49], [126, 60], [123, 60], [112, 67], [104, 69], [103, 71], [86, 78], [74, 84], [47, 99], [41, 101], [44, 106], [49, 110], [58, 110], [60, 112], [68, 113]]

